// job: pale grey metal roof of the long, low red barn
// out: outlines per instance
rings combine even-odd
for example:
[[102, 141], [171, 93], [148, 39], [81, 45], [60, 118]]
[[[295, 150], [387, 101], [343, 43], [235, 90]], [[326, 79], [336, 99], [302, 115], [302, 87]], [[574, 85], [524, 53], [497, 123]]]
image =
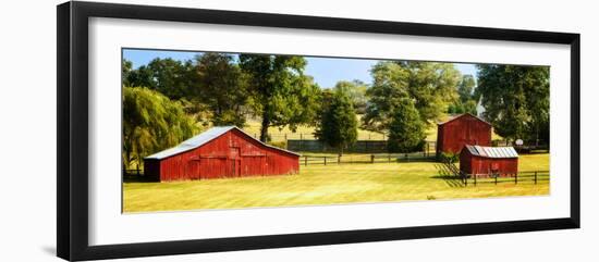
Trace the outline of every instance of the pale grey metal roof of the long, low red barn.
[[293, 152], [293, 151], [289, 151], [289, 150], [285, 150], [285, 149], [282, 149], [282, 148], [278, 148], [278, 147], [273, 147], [273, 146], [270, 146], [270, 145], [267, 145], [267, 144], [264, 144], [262, 141], [252, 137], [250, 135], [248, 135], [247, 133], [245, 133], [244, 130], [240, 129], [239, 127], [236, 126], [215, 126], [197, 136], [194, 136], [183, 142], [181, 142], [179, 146], [174, 147], [174, 148], [169, 148], [167, 150], [162, 150], [160, 152], [157, 152], [157, 153], [154, 153], [154, 154], [150, 154], [144, 159], [157, 159], [157, 160], [160, 160], [160, 159], [166, 159], [166, 158], [169, 158], [169, 157], [172, 157], [172, 155], [175, 155], [175, 154], [179, 154], [179, 153], [182, 153], [182, 152], [185, 152], [185, 151], [190, 151], [192, 149], [196, 149], [196, 148], [199, 148], [201, 146], [204, 146], [205, 144], [224, 135], [225, 133], [232, 130], [232, 129], [237, 129], [240, 130], [241, 133], [243, 133], [244, 135], [246, 135], [247, 137], [249, 137], [250, 139], [254, 139], [256, 141], [258, 141], [259, 144], [261, 144], [262, 146], [265, 147], [268, 147], [268, 148], [272, 148], [272, 149], [277, 149], [277, 150], [280, 150], [280, 151], [283, 151], [283, 152], [288, 152], [288, 153], [292, 153], [292, 154], [296, 154], [296, 155], [300, 155], [298, 153], [296, 152]]

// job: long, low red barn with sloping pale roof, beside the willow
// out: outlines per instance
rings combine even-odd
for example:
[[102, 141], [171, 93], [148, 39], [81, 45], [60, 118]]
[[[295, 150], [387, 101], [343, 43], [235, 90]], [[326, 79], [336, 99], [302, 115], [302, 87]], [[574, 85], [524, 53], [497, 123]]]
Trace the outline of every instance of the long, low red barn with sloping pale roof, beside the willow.
[[144, 159], [161, 182], [295, 174], [300, 154], [266, 145], [235, 126], [212, 127]]

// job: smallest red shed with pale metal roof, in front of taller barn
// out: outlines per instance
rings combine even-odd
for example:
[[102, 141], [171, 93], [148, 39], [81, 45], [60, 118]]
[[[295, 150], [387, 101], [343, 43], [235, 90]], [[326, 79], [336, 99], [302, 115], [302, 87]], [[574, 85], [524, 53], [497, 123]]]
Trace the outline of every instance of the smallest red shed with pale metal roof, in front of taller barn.
[[476, 176], [511, 176], [518, 172], [518, 154], [513, 147], [466, 145], [460, 153], [460, 171]]

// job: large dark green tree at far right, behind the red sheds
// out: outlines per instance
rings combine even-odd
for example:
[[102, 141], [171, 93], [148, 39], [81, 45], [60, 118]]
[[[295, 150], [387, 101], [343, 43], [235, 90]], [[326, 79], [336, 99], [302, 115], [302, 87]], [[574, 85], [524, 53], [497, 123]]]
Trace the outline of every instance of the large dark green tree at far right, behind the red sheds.
[[549, 67], [481, 64], [484, 116], [508, 139], [549, 142]]

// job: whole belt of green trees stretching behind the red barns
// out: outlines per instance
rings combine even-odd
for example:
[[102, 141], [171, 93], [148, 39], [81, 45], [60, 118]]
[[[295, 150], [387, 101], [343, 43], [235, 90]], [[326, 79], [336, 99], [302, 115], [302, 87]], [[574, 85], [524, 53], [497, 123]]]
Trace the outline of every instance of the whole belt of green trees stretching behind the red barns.
[[389, 150], [404, 152], [421, 148], [425, 129], [447, 113], [477, 114], [478, 103], [500, 136], [549, 139], [547, 66], [477, 65], [475, 78], [452, 63], [380, 61], [370, 85], [349, 79], [321, 88], [306, 64], [297, 55], [217, 52], [137, 68], [123, 60], [124, 163], [139, 164], [206, 126], [243, 127], [249, 117], [260, 120], [262, 141], [269, 127], [308, 125], [342, 153], [360, 127], [386, 134]]

